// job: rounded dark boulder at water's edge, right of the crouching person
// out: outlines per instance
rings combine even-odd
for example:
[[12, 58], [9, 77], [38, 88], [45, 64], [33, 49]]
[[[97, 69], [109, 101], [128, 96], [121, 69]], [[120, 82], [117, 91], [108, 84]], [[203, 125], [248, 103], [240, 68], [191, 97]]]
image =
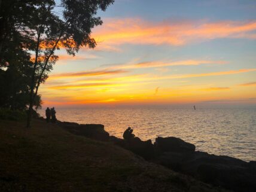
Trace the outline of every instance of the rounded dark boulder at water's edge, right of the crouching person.
[[188, 142], [183, 141], [182, 139], [169, 137], [169, 138], [156, 138], [154, 143], [157, 150], [162, 152], [171, 151], [179, 153], [187, 153], [196, 150], [196, 146]]

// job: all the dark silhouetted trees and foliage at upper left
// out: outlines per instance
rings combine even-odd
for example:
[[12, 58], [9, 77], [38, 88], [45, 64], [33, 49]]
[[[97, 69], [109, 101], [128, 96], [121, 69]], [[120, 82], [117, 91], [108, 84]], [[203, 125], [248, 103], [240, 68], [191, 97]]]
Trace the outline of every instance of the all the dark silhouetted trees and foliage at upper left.
[[113, 2], [0, 0], [0, 106], [28, 108], [29, 126], [33, 106], [41, 104], [39, 86], [57, 62], [56, 50], [75, 56], [81, 47], [94, 48], [92, 28], [102, 25], [97, 10]]

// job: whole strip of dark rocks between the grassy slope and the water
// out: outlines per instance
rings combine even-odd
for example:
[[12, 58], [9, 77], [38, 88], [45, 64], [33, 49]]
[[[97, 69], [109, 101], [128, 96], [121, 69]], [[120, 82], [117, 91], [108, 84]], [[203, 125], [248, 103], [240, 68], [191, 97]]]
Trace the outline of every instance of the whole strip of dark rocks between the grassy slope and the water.
[[237, 192], [256, 191], [256, 161], [246, 162], [233, 157], [196, 151], [195, 145], [174, 137], [158, 137], [154, 144], [151, 140], [141, 141], [138, 137], [126, 141], [109, 136], [102, 124], [78, 124], [65, 121], [57, 123], [75, 135], [112, 142], [145, 160], [191, 175], [208, 184]]

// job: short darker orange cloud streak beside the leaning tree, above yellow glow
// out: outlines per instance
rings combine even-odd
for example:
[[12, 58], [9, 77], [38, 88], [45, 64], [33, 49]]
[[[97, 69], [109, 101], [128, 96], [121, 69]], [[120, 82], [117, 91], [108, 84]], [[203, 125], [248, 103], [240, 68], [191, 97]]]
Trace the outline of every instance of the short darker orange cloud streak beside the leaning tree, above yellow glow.
[[51, 75], [50, 79], [56, 78], [74, 78], [74, 77], [90, 77], [90, 76], [99, 76], [99, 75], [114, 75], [114, 74], [122, 74], [127, 71], [124, 70], [112, 70], [112, 71], [83, 71], [83, 72], [71, 72], [71, 73], [63, 73], [63, 74], [54, 74]]

